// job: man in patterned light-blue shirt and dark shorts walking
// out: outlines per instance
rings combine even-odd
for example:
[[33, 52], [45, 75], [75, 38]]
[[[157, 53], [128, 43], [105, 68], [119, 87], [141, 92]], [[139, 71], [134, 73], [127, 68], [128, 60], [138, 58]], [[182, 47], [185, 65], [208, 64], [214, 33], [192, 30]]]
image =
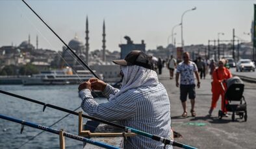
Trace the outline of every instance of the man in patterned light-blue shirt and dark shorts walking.
[[[181, 74], [181, 85], [179, 85], [179, 75]], [[198, 67], [196, 67], [196, 63], [190, 61], [190, 55], [188, 52], [183, 53], [183, 62], [179, 63], [176, 71], [176, 86], [180, 87], [180, 99], [183, 107], [182, 117], [187, 116], [186, 111], [186, 97], [190, 98], [191, 102], [191, 115], [192, 117], [196, 117], [196, 111], [194, 110], [195, 106], [195, 98], [196, 98], [196, 84], [194, 79], [194, 74], [196, 75], [196, 79], [198, 80], [197, 87], [200, 87], [200, 80], [198, 75]]]

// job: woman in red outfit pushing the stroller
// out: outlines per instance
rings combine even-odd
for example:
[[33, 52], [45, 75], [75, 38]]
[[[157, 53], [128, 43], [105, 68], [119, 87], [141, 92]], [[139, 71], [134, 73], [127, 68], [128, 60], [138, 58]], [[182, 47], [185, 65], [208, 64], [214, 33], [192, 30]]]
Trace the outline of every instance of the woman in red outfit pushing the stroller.
[[[231, 78], [232, 75], [225, 65], [225, 60], [222, 59], [218, 62], [218, 69], [215, 69], [212, 74], [212, 104], [211, 108], [209, 109], [209, 115], [212, 115], [212, 111], [216, 108], [216, 104], [220, 95], [222, 96], [222, 111], [224, 112], [225, 116], [227, 117], [227, 110], [224, 107], [224, 99], [225, 99], [225, 90], [227, 89], [225, 85], [225, 80]], [[225, 101], [227, 102], [227, 101]]]

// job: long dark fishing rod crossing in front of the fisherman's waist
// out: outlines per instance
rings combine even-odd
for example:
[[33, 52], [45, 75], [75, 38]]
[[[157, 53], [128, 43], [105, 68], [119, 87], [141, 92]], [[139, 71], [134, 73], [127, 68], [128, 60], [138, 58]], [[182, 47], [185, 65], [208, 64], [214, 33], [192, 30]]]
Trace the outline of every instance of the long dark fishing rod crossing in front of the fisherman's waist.
[[[38, 100], [34, 100], [34, 99], [31, 99], [31, 98], [22, 97], [22, 96], [20, 96], [20, 95], [16, 95], [16, 94], [9, 93], [9, 92], [6, 92], [6, 91], [0, 90], [0, 93], [3, 93], [3, 94], [5, 94], [5, 95], [9, 95], [9, 96], [11, 96], [11, 97], [21, 98], [21, 99], [23, 99], [23, 100], [27, 100], [27, 101], [29, 101], [29, 102], [34, 102], [34, 103], [36, 103], [36, 104], [41, 104], [41, 105], [44, 106], [43, 111], [45, 110], [46, 107], [49, 107], [49, 108], [58, 109], [58, 110], [60, 110], [60, 111], [64, 111], [64, 112], [67, 112], [67, 113], [71, 113], [71, 114], [73, 114], [73, 115], [79, 115], [79, 113], [77, 113], [77, 112], [75, 112], [75, 111], [71, 111], [70, 109], [61, 108], [61, 107], [58, 107], [58, 106], [54, 106], [54, 105], [52, 105], [52, 104], [47, 104], [47, 103], [45, 103], [45, 102], [40, 102], [40, 101], [38, 101]], [[115, 126], [116, 128], [120, 128], [120, 129], [124, 130], [125, 132], [133, 132], [133, 133], [136, 133], [136, 134], [138, 134], [138, 135], [143, 135], [144, 137], [149, 137], [149, 138], [151, 138], [151, 139], [153, 139], [153, 140], [155, 140], [155, 141], [159, 141], [159, 142], [162, 142], [162, 143], [164, 143], [164, 144], [170, 144], [170, 145], [172, 145], [172, 146], [177, 146], [177, 147], [179, 147], [179, 148], [185, 148], [185, 149], [196, 149], [196, 148], [194, 148], [194, 147], [192, 147], [192, 146], [188, 146], [188, 145], [186, 145], [186, 144], [178, 143], [178, 142], [173, 141], [173, 140], [171, 140], [171, 139], [166, 139], [166, 138], [160, 137], [160, 136], [158, 136], [158, 135], [152, 135], [152, 134], [150, 134], [150, 133], [142, 132], [142, 131], [136, 130], [136, 129], [134, 129], [134, 128], [130, 128], [130, 127], [127, 127], [127, 126], [122, 126], [122, 125], [120, 125], [120, 124], [115, 124], [115, 123], [113, 123], [113, 122], [108, 122], [107, 120], [98, 119], [98, 118], [96, 118], [96, 117], [91, 117], [91, 116], [89, 116], [89, 115], [84, 115], [84, 114], [82, 114], [82, 117], [84, 117], [84, 118], [86, 118], [86, 119], [96, 120], [96, 121], [98, 121], [98, 122], [102, 122], [102, 123], [108, 124], [108, 125], [110, 125], [110, 126]]]

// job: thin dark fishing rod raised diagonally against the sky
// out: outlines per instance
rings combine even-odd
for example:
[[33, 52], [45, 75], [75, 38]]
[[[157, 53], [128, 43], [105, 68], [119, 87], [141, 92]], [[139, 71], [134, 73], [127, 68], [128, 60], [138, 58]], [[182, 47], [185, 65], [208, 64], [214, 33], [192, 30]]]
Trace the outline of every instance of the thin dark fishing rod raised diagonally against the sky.
[[62, 43], [72, 52], [72, 54], [81, 62], [83, 63], [83, 65], [92, 73], [92, 75], [94, 75], [96, 78], [98, 78], [99, 80], [101, 80], [96, 73], [94, 73], [94, 71], [92, 71], [92, 69], [90, 69], [90, 67], [88, 65], [86, 65], [86, 63], [83, 62], [83, 60], [70, 48], [70, 46], [68, 46], [61, 38], [60, 36], [58, 36], [58, 34], [51, 29], [51, 27], [49, 27], [49, 25], [47, 25], [47, 23], [45, 23], [45, 21], [31, 8], [31, 6], [29, 6], [24, 0], [23, 3], [25, 3], [25, 5], [27, 5], [29, 7], [30, 10], [32, 10], [32, 12], [34, 12], [34, 14], [48, 27], [49, 30], [51, 30], [51, 32], [53, 32], [53, 34], [55, 34], [55, 36], [57, 36], [57, 38], [62, 41]]

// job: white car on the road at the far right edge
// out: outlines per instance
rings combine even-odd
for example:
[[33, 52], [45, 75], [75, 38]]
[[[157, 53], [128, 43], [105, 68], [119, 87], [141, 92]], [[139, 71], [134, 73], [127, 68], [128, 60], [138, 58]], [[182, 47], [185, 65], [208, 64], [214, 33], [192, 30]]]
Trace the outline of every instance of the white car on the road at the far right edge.
[[241, 59], [237, 62], [237, 72], [240, 71], [255, 71], [255, 63], [250, 59]]

